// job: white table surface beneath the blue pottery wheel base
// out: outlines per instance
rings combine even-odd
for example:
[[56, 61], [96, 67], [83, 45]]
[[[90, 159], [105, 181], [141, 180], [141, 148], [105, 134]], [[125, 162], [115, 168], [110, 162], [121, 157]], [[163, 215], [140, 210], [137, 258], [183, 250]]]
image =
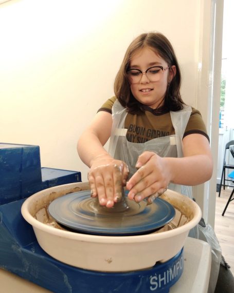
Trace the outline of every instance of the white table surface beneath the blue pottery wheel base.
[[[202, 240], [187, 238], [184, 246], [184, 272], [170, 293], [207, 293], [211, 268], [211, 250]], [[49, 290], [0, 269], [1, 292], [48, 293]]]

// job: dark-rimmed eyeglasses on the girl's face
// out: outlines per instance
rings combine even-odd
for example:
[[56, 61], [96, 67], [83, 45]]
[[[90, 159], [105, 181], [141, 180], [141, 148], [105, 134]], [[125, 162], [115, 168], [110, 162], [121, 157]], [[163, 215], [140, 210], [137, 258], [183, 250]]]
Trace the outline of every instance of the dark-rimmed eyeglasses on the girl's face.
[[164, 71], [166, 71], [168, 68], [170, 67], [168, 66], [163, 68], [163, 66], [153, 66], [148, 68], [146, 71], [141, 71], [140, 69], [132, 68], [127, 70], [127, 74], [129, 76], [129, 80], [133, 84], [139, 83], [143, 74], [146, 74], [151, 82], [157, 82], [161, 79], [161, 77], [164, 74]]

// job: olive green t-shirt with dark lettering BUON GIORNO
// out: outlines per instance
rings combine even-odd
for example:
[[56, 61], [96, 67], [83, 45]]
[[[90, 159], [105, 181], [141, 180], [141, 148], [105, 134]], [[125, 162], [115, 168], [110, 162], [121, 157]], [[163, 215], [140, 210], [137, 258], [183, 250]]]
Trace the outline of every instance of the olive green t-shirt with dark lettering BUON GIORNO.
[[[106, 111], [112, 113], [112, 106], [115, 100], [115, 96], [107, 100], [98, 110], [98, 112]], [[126, 134], [128, 141], [133, 143], [145, 143], [155, 138], [161, 138], [163, 136], [175, 134], [175, 130], [171, 121], [170, 111], [165, 110], [157, 112], [148, 106], [145, 106], [144, 108], [145, 113], [128, 113], [125, 118], [124, 128], [128, 129]], [[192, 108], [192, 112], [185, 129], [184, 137], [192, 133], [203, 134], [209, 140], [206, 126], [202, 120], [202, 115], [194, 108]]]

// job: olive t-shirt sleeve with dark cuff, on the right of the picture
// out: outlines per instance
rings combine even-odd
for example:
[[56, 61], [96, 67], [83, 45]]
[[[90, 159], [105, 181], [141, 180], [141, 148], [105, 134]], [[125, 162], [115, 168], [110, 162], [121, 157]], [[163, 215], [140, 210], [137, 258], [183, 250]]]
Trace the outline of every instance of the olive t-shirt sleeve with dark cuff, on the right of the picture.
[[186, 126], [184, 137], [193, 133], [203, 134], [209, 141], [209, 136], [207, 134], [206, 126], [202, 119], [202, 115], [199, 112], [199, 110], [196, 110], [194, 108], [192, 108], [192, 113]]

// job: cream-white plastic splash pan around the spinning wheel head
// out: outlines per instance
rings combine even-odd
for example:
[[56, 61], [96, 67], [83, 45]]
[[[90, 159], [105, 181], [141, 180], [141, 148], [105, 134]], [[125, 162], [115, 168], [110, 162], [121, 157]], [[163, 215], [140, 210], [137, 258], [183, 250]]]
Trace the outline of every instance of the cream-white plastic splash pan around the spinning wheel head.
[[88, 189], [87, 183], [51, 187], [33, 194], [22, 205], [22, 215], [33, 226], [42, 249], [63, 263], [83, 269], [133, 271], [150, 268], [158, 261], [165, 262], [183, 248], [189, 230], [199, 223], [202, 216], [195, 202], [167, 190], [161, 198], [181, 210], [189, 219], [187, 223], [171, 230], [161, 229], [140, 236], [96, 236], [61, 230], [35, 219], [35, 214], [52, 200], [67, 193]]

